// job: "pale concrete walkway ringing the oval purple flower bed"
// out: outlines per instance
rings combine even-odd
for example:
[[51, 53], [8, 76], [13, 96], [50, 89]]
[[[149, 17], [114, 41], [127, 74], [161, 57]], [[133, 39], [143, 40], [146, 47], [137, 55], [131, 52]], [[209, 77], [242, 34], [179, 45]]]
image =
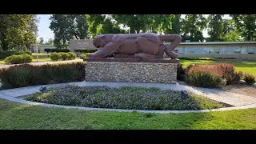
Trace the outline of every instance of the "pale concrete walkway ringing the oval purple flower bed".
[[0, 98], [4, 98], [6, 100], [10, 100], [13, 102], [20, 102], [25, 104], [32, 105], [41, 105], [41, 106], [55, 106], [55, 107], [63, 107], [68, 109], [82, 109], [82, 110], [108, 110], [108, 111], [138, 111], [138, 112], [146, 112], [146, 113], [188, 113], [188, 112], [208, 112], [208, 111], [222, 111], [222, 110], [239, 110], [239, 109], [247, 109], [247, 108], [256, 108], [256, 98], [249, 97], [242, 94], [234, 94], [230, 92], [225, 92], [222, 90], [213, 90], [192, 86], [184, 86], [179, 84], [162, 84], [162, 83], [134, 83], [134, 82], [70, 82], [70, 83], [62, 83], [62, 84], [52, 84], [52, 85], [44, 85], [44, 86], [66, 86], [66, 85], [75, 85], [75, 86], [109, 86], [109, 87], [121, 87], [121, 86], [140, 86], [140, 87], [156, 87], [161, 90], [188, 90], [192, 91], [196, 94], [202, 94], [207, 98], [216, 100], [218, 102], [224, 102], [226, 104], [232, 105], [234, 107], [228, 108], [220, 108], [214, 110], [118, 110], [118, 109], [102, 109], [102, 108], [86, 108], [81, 106], [59, 106], [52, 105], [46, 103], [39, 102], [30, 102], [23, 100], [21, 98], [17, 98], [19, 96], [34, 94], [39, 91], [42, 86], [28, 86], [10, 90], [0, 90]]

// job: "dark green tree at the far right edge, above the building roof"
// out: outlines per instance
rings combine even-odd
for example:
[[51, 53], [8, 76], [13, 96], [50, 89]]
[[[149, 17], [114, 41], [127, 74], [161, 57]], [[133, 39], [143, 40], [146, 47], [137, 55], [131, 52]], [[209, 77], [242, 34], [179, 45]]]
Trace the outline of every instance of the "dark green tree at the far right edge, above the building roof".
[[256, 38], [256, 14], [230, 14], [242, 38], [253, 41]]

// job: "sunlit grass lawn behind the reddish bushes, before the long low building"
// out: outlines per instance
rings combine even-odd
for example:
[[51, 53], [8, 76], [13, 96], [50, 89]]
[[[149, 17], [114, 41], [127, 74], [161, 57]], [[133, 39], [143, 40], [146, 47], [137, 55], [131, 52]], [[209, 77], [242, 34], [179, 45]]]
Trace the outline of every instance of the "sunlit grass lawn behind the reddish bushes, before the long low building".
[[253, 74], [256, 77], [256, 62], [234, 62], [234, 61], [211, 61], [211, 60], [184, 60], [181, 59], [180, 63], [183, 66], [189, 66], [190, 64], [210, 64], [217, 62], [227, 62], [232, 63], [235, 69], [238, 71], [246, 72], [248, 74]]

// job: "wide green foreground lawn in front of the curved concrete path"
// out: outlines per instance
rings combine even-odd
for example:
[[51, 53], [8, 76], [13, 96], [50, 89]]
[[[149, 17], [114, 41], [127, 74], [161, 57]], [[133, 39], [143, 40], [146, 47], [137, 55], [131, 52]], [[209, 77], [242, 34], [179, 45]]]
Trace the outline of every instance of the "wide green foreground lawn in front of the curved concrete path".
[[0, 129], [256, 129], [256, 109], [199, 114], [67, 110], [0, 99]]

